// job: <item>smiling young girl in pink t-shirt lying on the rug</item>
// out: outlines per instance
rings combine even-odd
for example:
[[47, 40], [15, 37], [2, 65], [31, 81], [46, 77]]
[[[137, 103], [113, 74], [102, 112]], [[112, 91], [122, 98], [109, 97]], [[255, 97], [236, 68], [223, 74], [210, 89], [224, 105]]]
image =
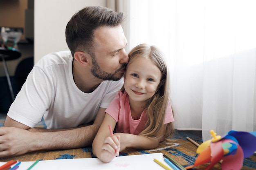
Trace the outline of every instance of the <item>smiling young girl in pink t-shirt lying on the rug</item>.
[[[110, 106], [92, 143], [92, 151], [108, 163], [119, 151], [156, 148], [173, 132], [168, 72], [155, 46], [140, 44], [130, 53], [124, 86]], [[114, 136], [110, 130], [116, 128]]]

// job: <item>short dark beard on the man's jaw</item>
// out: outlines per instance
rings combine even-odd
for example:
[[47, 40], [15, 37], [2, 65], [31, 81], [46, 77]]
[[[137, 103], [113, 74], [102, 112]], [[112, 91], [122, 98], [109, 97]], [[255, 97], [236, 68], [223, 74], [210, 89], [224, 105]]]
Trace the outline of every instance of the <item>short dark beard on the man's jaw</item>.
[[95, 77], [99, 78], [99, 79], [104, 79], [104, 80], [114, 80], [114, 81], [118, 81], [119, 79], [121, 79], [123, 77], [122, 75], [119, 75], [117, 77], [116, 73], [119, 72], [120, 70], [123, 70], [124, 68], [126, 68], [126, 63], [122, 64], [122, 66], [115, 71], [115, 73], [108, 73], [106, 71], [101, 70], [98, 62], [95, 59], [95, 55], [91, 55], [92, 57], [92, 70], [91, 73], [92, 75], [94, 75]]

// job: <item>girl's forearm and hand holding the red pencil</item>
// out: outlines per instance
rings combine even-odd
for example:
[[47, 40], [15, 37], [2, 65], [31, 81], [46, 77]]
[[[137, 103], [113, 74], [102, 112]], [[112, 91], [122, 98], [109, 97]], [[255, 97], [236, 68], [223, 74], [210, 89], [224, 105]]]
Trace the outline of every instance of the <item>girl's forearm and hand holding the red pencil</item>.
[[112, 129], [115, 129], [116, 121], [106, 113], [99, 131], [92, 142], [93, 154], [105, 163], [110, 162], [114, 157], [118, 156], [120, 150], [120, 136], [115, 135], [110, 137], [108, 125]]

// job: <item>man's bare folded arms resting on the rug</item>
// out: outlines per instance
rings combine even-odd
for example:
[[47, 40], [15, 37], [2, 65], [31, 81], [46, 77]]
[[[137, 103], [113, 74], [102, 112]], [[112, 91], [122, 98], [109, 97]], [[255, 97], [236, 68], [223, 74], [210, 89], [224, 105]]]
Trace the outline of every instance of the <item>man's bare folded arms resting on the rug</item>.
[[0, 158], [22, 155], [36, 150], [72, 149], [92, 146], [99, 126], [105, 116], [104, 108], [94, 124], [77, 128], [48, 130], [30, 128], [7, 116], [4, 127], [0, 128]]

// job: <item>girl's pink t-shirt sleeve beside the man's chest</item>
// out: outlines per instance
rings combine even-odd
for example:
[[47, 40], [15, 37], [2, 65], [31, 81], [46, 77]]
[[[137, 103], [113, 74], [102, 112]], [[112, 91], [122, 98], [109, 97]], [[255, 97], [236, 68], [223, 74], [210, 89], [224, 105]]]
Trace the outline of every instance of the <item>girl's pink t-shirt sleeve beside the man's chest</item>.
[[118, 121], [119, 118], [119, 112], [120, 112], [120, 95], [121, 92], [119, 91], [115, 98], [112, 100], [108, 108], [105, 110], [105, 113], [108, 113], [111, 117], [115, 119], [115, 121]]

